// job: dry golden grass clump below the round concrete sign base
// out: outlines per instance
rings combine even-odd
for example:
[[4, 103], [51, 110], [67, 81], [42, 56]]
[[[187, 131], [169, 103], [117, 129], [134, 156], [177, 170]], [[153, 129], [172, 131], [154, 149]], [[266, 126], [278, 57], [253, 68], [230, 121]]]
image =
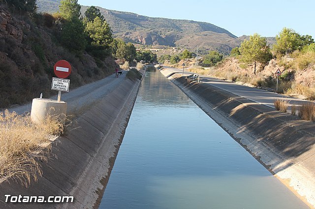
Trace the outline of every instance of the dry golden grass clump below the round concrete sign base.
[[42, 171], [37, 159], [47, 161], [50, 139], [63, 133], [63, 121], [49, 116], [42, 125], [35, 125], [30, 114], [0, 112], [0, 182], [20, 181], [26, 187]]

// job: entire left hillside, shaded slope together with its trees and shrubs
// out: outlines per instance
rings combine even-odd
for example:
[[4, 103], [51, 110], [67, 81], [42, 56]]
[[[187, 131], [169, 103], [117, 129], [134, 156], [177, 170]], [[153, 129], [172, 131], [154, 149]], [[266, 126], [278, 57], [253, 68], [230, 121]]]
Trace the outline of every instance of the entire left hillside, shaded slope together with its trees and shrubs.
[[0, 7], [6, 24], [0, 26], [2, 108], [30, 102], [41, 93], [44, 98], [56, 94], [50, 85], [53, 66], [60, 59], [72, 66], [71, 89], [112, 74], [116, 58], [130, 63], [156, 60], [153, 54], [137, 54], [131, 43], [114, 39], [95, 6], [83, 18], [77, 0], [61, 0], [60, 11], [54, 14], [36, 13], [36, 4], [30, 7], [32, 1], [12, 2], [22, 8], [22, 16], [13, 14], [13, 8]]

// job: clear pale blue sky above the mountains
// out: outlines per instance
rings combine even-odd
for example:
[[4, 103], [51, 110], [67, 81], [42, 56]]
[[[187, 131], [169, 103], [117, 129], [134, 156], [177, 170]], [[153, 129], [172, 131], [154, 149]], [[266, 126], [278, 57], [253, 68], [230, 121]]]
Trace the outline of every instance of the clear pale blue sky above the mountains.
[[78, 0], [149, 17], [207, 22], [236, 36], [276, 36], [283, 27], [315, 38], [315, 0]]

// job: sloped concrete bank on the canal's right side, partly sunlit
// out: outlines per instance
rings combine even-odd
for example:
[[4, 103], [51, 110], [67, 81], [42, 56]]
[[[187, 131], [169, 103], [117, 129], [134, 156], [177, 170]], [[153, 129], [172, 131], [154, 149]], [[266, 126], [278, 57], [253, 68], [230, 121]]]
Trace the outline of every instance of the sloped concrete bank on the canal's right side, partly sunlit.
[[205, 83], [187, 82], [169, 70], [178, 85], [253, 157], [310, 207], [315, 206], [315, 124]]

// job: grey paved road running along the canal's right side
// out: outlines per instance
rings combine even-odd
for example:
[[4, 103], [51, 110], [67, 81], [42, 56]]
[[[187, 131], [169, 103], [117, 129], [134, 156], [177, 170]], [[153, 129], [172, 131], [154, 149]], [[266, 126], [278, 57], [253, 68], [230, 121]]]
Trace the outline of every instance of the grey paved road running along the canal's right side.
[[[168, 69], [173, 72], [183, 72], [183, 69], [164, 67], [164, 69]], [[192, 74], [191, 72], [184, 71], [184, 75]], [[277, 94], [274, 92], [269, 92], [257, 88], [252, 88], [240, 84], [236, 84], [233, 82], [221, 80], [218, 78], [211, 78], [203, 75], [199, 75], [200, 81], [203, 83], [207, 83], [209, 85], [218, 87], [222, 90], [231, 92], [241, 97], [248, 98], [256, 103], [265, 104], [267, 106], [275, 107], [274, 101], [277, 99], [288, 100], [289, 104], [306, 104], [308, 101], [284, 96], [281, 94]]]

